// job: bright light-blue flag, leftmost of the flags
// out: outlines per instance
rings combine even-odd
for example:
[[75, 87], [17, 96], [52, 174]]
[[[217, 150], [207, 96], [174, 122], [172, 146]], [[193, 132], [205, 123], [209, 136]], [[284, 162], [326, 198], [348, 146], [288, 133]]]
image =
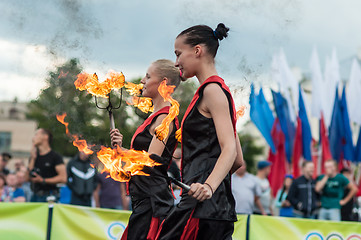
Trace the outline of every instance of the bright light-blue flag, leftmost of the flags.
[[276, 152], [275, 145], [272, 140], [271, 130], [274, 123], [274, 117], [268, 103], [263, 95], [262, 88], [258, 96], [254, 92], [254, 86], [251, 85], [251, 95], [249, 97], [250, 117], [256, 125], [263, 137], [266, 139], [273, 153]]

